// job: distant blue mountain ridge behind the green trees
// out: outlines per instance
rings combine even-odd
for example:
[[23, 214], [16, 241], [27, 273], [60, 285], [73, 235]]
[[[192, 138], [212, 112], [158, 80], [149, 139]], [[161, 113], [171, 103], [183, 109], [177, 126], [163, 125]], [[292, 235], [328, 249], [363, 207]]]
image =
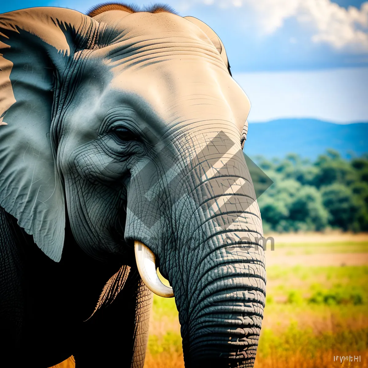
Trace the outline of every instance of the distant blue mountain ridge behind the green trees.
[[250, 123], [244, 152], [267, 158], [282, 158], [293, 152], [315, 159], [328, 148], [343, 157], [368, 152], [368, 123], [334, 124], [315, 119]]

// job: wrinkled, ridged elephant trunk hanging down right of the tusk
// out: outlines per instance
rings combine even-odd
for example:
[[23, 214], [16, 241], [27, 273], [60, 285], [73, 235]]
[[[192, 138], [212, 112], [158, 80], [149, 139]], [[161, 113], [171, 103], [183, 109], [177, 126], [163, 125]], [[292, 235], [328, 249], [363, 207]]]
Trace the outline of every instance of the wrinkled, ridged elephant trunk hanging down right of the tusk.
[[[265, 306], [262, 223], [253, 184], [241, 150], [227, 162], [225, 156], [206, 155], [192, 170], [186, 190], [192, 196], [175, 213], [180, 235], [170, 258], [176, 264], [166, 262], [185, 366], [191, 368], [253, 367]], [[203, 174], [219, 160], [222, 168]]]

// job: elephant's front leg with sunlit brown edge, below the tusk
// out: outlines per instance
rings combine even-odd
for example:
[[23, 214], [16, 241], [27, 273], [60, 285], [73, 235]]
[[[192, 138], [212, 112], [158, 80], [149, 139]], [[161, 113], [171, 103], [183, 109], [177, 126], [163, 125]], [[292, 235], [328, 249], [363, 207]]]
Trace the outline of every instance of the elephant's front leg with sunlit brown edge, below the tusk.
[[75, 367], [143, 367], [151, 305], [152, 293], [132, 267], [115, 300], [80, 324]]

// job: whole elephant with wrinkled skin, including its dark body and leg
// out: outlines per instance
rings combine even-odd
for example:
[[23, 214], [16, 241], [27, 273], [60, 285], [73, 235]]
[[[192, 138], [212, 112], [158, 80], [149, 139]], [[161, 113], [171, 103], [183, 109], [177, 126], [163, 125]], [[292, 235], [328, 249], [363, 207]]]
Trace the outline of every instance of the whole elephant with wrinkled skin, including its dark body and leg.
[[5, 366], [143, 367], [156, 293], [175, 297], [185, 367], [253, 367], [250, 102], [220, 38], [168, 6], [109, 3], [1, 14], [0, 47]]

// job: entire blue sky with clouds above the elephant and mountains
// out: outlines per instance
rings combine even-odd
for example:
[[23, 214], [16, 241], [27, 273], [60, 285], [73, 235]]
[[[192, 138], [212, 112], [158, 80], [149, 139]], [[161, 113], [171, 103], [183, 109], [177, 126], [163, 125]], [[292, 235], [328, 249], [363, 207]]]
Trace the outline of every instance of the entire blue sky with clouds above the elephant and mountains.
[[[368, 121], [368, 1], [163, 2], [180, 15], [201, 19], [220, 36], [234, 78], [250, 98], [250, 122], [280, 117]], [[4, 1], [0, 13], [33, 6], [85, 13], [98, 3], [13, 0]], [[143, 6], [155, 1], [134, 3]]]

